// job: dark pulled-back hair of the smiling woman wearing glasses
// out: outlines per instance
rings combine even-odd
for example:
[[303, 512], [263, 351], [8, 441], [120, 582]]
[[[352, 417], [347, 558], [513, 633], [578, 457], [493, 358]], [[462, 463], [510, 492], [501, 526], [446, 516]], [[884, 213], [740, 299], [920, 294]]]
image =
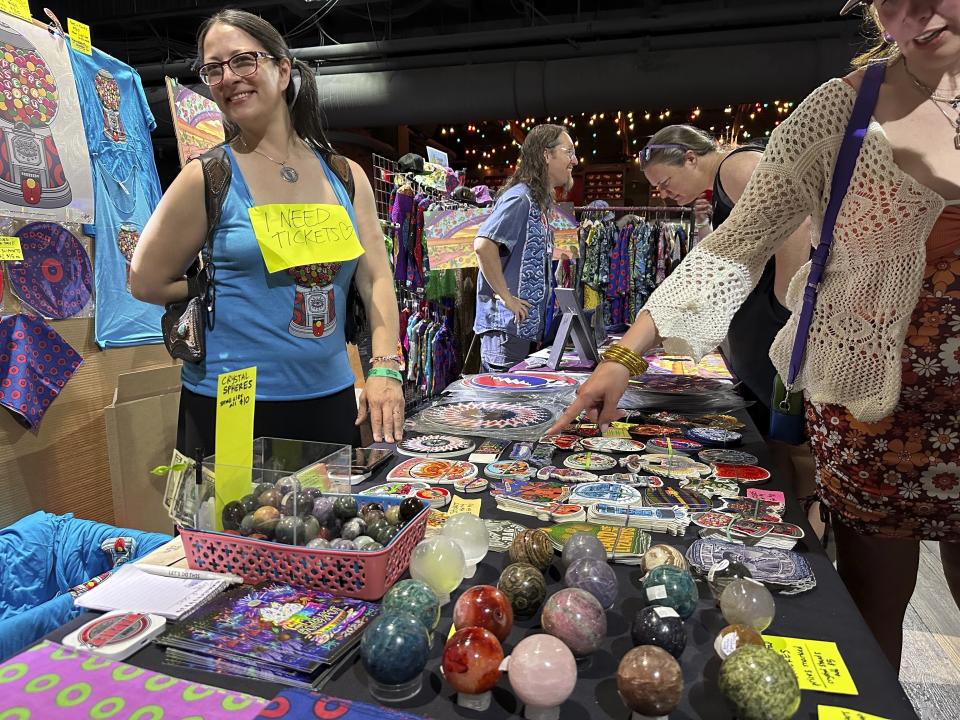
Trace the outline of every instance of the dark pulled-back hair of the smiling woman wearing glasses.
[[[221, 10], [216, 15], [207, 18], [197, 33], [197, 55], [201, 58], [201, 62], [203, 41], [206, 40], [210, 28], [220, 23], [243, 30], [263, 45], [263, 49], [275, 58], [287, 58], [290, 61], [290, 83], [287, 85], [284, 97], [287, 101], [287, 109], [290, 111], [290, 121], [293, 124], [293, 129], [307, 145], [318, 150], [324, 156], [333, 153], [333, 146], [327, 140], [326, 133], [323, 131], [323, 110], [320, 108], [320, 93], [317, 91], [313, 70], [305, 62], [290, 54], [290, 48], [287, 46], [286, 40], [266, 20], [244, 10]], [[294, 84], [293, 71], [300, 73], [299, 89]], [[227, 142], [231, 142], [240, 136], [240, 128], [226, 119], [223, 121], [223, 130]]]

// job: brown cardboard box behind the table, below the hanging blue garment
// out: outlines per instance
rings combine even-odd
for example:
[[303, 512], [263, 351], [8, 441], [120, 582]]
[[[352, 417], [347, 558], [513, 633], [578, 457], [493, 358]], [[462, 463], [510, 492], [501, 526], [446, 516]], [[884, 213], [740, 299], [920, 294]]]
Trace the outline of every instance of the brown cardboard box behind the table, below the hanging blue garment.
[[163, 506], [166, 475], [150, 470], [170, 462], [177, 440], [180, 367], [117, 376], [113, 403], [104, 408], [115, 523], [169, 533]]

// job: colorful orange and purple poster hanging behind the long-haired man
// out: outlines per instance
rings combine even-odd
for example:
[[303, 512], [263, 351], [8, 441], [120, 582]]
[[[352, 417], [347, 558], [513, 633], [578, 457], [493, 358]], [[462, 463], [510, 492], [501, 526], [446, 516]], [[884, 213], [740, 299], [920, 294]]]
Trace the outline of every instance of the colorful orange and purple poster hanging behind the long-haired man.
[[[473, 241], [493, 208], [456, 207], [429, 209], [423, 214], [423, 236], [431, 270], [477, 267]], [[573, 206], [561, 203], [550, 216], [553, 228], [553, 259], [579, 257], [577, 223]]]

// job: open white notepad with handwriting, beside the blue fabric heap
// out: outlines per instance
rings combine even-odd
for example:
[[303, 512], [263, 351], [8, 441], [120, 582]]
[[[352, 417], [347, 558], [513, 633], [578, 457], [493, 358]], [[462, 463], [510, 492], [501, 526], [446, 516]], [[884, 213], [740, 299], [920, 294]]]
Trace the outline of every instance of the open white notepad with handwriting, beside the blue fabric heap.
[[126, 610], [179, 620], [229, 587], [226, 580], [187, 580], [124, 565], [97, 587], [74, 600], [88, 610]]

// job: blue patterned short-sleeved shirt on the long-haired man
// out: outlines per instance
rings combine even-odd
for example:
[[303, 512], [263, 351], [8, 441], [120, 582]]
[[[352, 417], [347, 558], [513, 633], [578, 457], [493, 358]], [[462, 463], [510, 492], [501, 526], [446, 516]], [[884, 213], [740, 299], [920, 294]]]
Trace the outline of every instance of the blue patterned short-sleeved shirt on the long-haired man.
[[518, 183], [497, 198], [493, 212], [480, 226], [477, 237], [489, 238], [500, 246], [500, 264], [507, 288], [514, 296], [530, 303], [530, 313], [518, 326], [513, 313], [495, 297], [481, 273], [473, 331], [499, 330], [526, 340], [539, 340], [543, 336], [550, 291], [553, 231], [526, 185]]

